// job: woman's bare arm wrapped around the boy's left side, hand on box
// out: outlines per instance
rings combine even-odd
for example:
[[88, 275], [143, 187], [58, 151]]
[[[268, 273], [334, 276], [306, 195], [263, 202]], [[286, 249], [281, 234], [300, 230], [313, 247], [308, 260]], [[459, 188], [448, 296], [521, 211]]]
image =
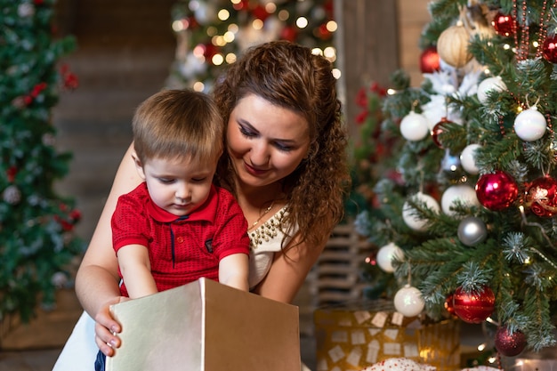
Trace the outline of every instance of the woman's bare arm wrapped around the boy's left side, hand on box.
[[97, 322], [97, 344], [107, 355], [112, 355], [107, 343], [111, 343], [113, 347], [119, 345], [117, 336], [110, 334], [110, 331], [120, 332], [119, 324], [109, 314], [109, 305], [123, 300], [118, 288], [117, 258], [112, 248], [110, 219], [116, 208], [117, 198], [141, 183], [132, 153], [133, 145], [127, 149], [120, 163], [109, 198], [76, 277], [77, 298], [85, 311]]

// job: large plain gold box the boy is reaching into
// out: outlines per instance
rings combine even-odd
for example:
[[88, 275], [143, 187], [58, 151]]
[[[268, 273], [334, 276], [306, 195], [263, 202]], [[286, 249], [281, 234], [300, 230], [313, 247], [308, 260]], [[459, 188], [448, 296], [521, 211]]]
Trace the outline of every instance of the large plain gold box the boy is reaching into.
[[111, 307], [107, 371], [298, 371], [298, 308], [201, 278]]

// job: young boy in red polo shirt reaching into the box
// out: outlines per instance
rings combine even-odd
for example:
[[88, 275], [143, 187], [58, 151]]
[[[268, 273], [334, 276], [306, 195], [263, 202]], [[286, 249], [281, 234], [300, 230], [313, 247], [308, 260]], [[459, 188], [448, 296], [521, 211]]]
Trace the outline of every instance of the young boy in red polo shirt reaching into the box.
[[[222, 117], [203, 93], [165, 90], [133, 117], [133, 160], [144, 180], [112, 215], [120, 291], [138, 298], [198, 278], [248, 290], [247, 222], [213, 176]], [[104, 369], [99, 352], [95, 369]]]

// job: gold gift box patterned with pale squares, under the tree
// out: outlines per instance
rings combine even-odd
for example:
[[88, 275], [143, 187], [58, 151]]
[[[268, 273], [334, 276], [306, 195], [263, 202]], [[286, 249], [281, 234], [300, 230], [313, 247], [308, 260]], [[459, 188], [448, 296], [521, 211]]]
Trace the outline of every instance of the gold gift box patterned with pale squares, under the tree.
[[460, 322], [407, 318], [390, 301], [355, 301], [314, 311], [318, 371], [361, 370], [403, 357], [437, 367], [460, 366]]

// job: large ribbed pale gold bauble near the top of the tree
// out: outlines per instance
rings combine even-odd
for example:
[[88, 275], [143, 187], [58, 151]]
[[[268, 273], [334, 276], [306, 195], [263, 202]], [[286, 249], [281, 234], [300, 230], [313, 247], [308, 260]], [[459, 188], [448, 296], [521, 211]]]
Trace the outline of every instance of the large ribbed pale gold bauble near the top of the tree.
[[437, 39], [437, 52], [439, 57], [449, 66], [460, 69], [472, 60], [468, 52], [470, 34], [462, 25], [451, 26], [441, 32]]

